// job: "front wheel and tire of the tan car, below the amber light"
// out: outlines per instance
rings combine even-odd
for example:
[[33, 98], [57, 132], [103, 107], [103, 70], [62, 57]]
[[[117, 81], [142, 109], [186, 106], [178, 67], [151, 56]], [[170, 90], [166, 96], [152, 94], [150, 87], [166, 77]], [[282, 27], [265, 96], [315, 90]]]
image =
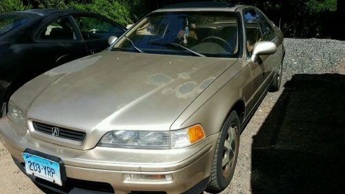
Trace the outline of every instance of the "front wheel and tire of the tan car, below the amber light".
[[[224, 191], [233, 179], [239, 151], [239, 129], [239, 117], [236, 111], [232, 111], [219, 133], [210, 181], [206, 188], [208, 193]], [[228, 164], [224, 165], [223, 161], [228, 162]]]

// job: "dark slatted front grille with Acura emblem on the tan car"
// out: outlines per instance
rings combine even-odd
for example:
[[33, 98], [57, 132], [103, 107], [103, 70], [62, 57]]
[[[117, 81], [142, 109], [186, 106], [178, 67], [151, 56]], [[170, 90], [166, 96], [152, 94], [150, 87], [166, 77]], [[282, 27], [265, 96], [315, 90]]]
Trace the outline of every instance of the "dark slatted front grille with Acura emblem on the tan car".
[[[49, 135], [52, 135], [52, 128], [56, 126], [48, 125], [48, 124], [42, 124], [38, 122], [32, 122], [32, 126], [34, 127], [34, 130], [37, 130], [41, 133], [46, 133]], [[86, 133], [77, 131], [77, 130], [70, 130], [68, 128], [58, 127], [59, 128], [59, 137], [64, 139], [70, 139], [77, 142], [83, 142]]]

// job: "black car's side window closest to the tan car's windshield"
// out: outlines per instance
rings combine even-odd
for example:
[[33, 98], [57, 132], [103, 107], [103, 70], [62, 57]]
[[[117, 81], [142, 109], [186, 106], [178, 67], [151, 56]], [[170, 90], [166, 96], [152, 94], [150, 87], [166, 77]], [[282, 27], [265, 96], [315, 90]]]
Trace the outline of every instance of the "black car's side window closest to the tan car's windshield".
[[124, 33], [121, 28], [97, 17], [74, 17], [84, 40], [108, 39]]

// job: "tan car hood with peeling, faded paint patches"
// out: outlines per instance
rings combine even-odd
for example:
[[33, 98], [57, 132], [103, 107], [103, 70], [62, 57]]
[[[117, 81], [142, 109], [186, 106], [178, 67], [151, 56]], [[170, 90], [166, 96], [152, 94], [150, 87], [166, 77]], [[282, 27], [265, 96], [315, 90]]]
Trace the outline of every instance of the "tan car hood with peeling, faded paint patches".
[[41, 75], [54, 81], [37, 91], [27, 118], [87, 133], [169, 130], [236, 60], [104, 51]]

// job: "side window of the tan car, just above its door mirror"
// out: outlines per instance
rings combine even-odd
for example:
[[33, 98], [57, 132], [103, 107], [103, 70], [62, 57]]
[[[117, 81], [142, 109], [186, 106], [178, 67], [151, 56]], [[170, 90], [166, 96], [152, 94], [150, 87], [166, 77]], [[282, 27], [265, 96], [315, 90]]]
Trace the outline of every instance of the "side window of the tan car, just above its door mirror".
[[262, 41], [262, 31], [260, 29], [258, 16], [255, 10], [244, 12], [244, 24], [246, 26], [247, 50], [249, 55], [251, 55], [254, 49], [254, 44], [257, 41]]

